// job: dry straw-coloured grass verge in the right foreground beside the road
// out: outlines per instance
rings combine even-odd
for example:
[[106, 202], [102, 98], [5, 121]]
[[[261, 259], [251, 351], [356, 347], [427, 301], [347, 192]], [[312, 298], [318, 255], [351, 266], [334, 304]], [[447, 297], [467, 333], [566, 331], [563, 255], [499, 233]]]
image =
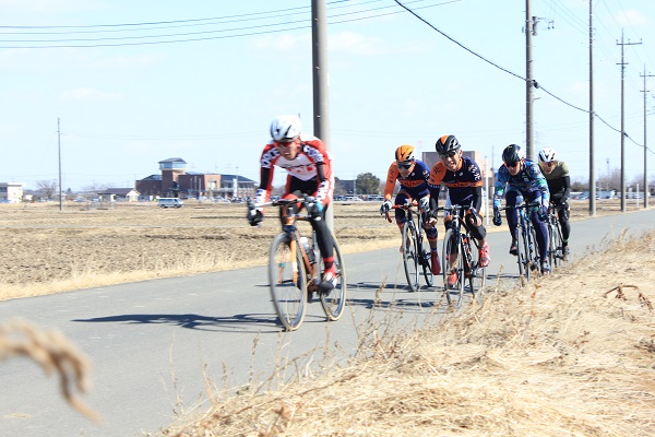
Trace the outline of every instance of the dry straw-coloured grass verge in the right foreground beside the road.
[[[167, 436], [655, 435], [655, 234], [354, 362], [259, 394], [214, 398]], [[376, 309], [374, 309], [376, 310]], [[380, 309], [377, 309], [380, 310]]]

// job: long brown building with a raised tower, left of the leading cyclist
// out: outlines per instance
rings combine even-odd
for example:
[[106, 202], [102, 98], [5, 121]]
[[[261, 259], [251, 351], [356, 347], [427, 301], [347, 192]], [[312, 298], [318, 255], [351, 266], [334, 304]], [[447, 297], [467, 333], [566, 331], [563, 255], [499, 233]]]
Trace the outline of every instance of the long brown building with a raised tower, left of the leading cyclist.
[[187, 172], [187, 162], [180, 157], [159, 161], [160, 175], [136, 180], [135, 187], [144, 197], [214, 199], [253, 197], [254, 180], [238, 175]]

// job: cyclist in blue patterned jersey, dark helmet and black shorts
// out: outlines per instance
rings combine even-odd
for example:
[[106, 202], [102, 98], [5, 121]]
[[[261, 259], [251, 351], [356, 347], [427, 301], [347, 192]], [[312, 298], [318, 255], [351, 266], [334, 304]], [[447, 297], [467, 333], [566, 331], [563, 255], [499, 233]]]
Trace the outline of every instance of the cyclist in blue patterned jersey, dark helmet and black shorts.
[[[500, 202], [504, 194], [508, 205], [519, 206], [523, 199], [527, 203], [539, 202], [539, 208], [529, 211], [529, 218], [537, 232], [537, 245], [541, 259], [541, 273], [549, 273], [548, 264], [548, 227], [545, 221], [548, 218], [548, 202], [550, 192], [546, 178], [539, 170], [539, 166], [524, 157], [523, 151], [516, 144], [510, 144], [502, 151], [503, 165], [498, 169], [496, 187], [493, 191], [493, 224], [500, 226]], [[507, 192], [505, 192], [507, 187]], [[519, 211], [505, 210], [512, 245], [510, 253], [516, 255], [516, 224], [519, 223]]]

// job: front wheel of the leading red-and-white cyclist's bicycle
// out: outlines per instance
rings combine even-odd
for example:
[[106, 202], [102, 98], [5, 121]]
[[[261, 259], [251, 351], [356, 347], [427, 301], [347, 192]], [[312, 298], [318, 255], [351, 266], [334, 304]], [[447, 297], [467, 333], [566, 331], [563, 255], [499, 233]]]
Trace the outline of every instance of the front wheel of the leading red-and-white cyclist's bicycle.
[[287, 331], [298, 329], [307, 309], [307, 274], [300, 250], [291, 253], [287, 234], [278, 234], [271, 244], [269, 284], [279, 321]]

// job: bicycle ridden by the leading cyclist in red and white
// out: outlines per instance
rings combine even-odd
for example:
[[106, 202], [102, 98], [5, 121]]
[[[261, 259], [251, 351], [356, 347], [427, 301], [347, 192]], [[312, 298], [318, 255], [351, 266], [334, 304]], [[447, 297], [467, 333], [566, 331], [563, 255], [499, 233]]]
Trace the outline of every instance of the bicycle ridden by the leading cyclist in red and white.
[[296, 221], [313, 220], [300, 213], [302, 205], [309, 206], [313, 202], [313, 198], [306, 197], [248, 204], [249, 209], [269, 205], [281, 209], [282, 232], [271, 243], [269, 285], [275, 312], [287, 331], [295, 331], [302, 324], [307, 304], [313, 300], [314, 294], [318, 294], [323, 311], [331, 321], [341, 318], [346, 304], [346, 270], [336, 239], [331, 235], [336, 269], [334, 290], [325, 293], [319, 290], [324, 267], [315, 232], [312, 229], [310, 241], [296, 227]]

